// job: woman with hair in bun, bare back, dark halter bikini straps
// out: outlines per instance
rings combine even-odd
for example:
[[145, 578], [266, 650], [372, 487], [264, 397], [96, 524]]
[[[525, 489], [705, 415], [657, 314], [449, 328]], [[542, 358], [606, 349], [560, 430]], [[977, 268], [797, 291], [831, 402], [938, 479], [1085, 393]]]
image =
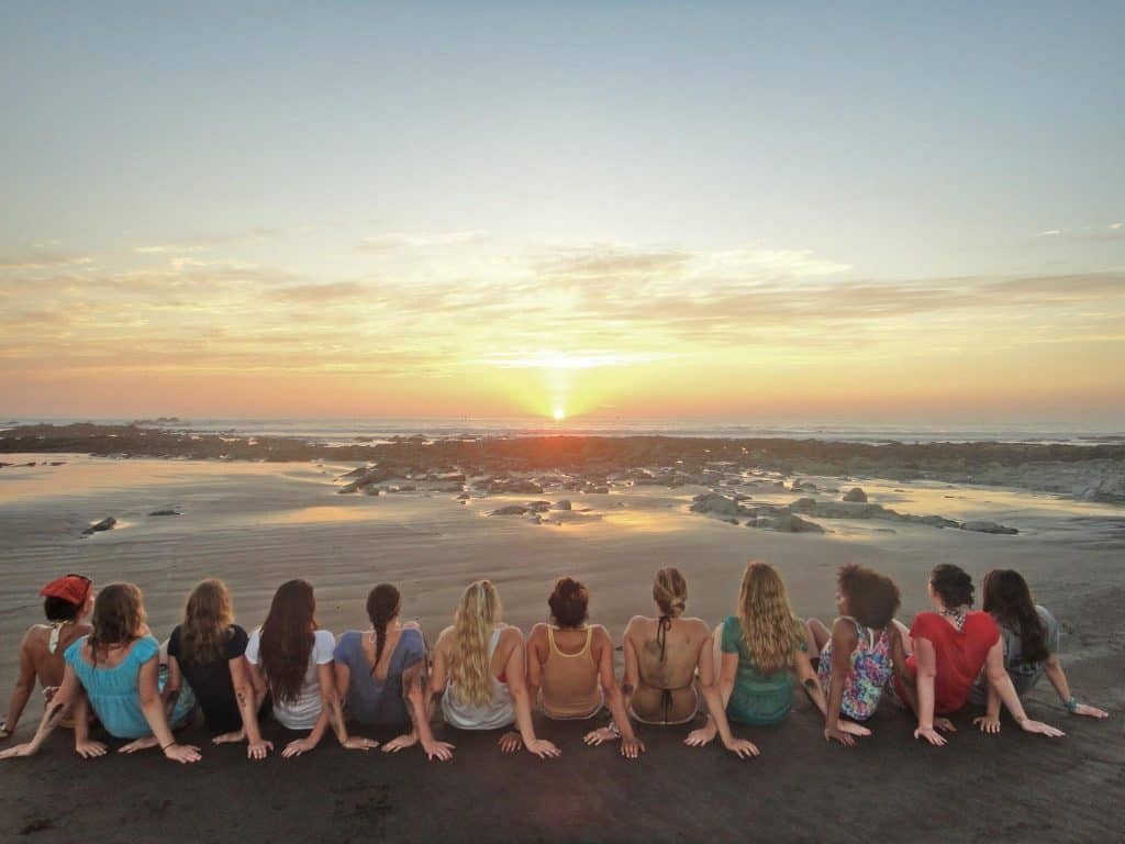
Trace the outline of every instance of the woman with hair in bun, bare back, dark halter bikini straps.
[[711, 630], [702, 619], [681, 618], [687, 581], [678, 569], [656, 573], [652, 600], [659, 616], [634, 616], [626, 627], [627, 711], [641, 724], [687, 724], [699, 709], [696, 681], [711, 682]]

